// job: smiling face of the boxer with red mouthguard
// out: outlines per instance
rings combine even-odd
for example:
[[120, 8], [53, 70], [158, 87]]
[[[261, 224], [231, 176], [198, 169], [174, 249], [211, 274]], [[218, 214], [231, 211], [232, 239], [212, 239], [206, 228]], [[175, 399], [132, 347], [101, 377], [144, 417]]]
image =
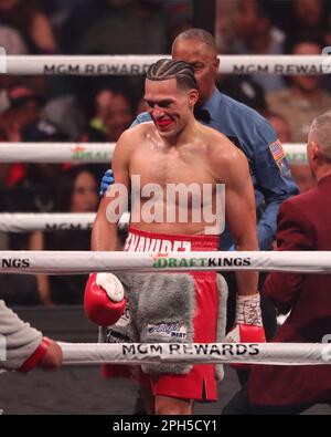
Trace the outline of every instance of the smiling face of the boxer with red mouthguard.
[[196, 90], [178, 87], [175, 79], [146, 80], [145, 102], [159, 134], [163, 137], [174, 136], [185, 127], [197, 98]]

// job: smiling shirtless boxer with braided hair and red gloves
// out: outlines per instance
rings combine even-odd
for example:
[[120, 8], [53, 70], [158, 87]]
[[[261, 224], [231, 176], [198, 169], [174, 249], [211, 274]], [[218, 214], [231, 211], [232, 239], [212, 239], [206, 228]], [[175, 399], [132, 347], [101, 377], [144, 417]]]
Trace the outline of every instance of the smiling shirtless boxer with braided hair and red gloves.
[[[130, 189], [135, 175], [140, 176], [142, 187], [150, 183], [158, 184], [164, 193], [167, 184], [183, 183], [185, 186], [192, 183], [197, 183], [200, 186], [211, 184], [213, 204], [216, 201], [216, 184], [225, 184], [225, 219], [234, 237], [236, 249], [258, 250], [254, 190], [247, 159], [224, 135], [195, 121], [193, 108], [197, 98], [194, 72], [189, 64], [182, 61], [160, 60], [150, 66], [146, 80], [145, 100], [152, 122], [126, 131], [117, 142], [113, 158], [116, 184]], [[167, 196], [164, 195], [163, 198]], [[141, 197], [139, 200], [141, 212], [150, 199]], [[117, 196], [114, 185], [99, 205], [93, 228], [93, 250], [113, 251], [117, 247], [117, 223], [110, 222], [107, 218], [108, 208], [115, 201], [117, 201]], [[163, 207], [164, 217], [167, 217], [169, 208], [167, 201]], [[135, 208], [134, 204], [131, 219]], [[185, 223], [179, 220], [147, 222], [141, 219], [132, 225], [131, 221], [125, 250], [160, 250], [160, 244], [161, 247], [168, 244], [170, 250], [175, 250], [174, 248], [178, 248], [177, 250], [189, 248], [190, 251], [217, 250], [220, 235], [205, 235], [211, 223], [204, 220], [194, 222], [192, 212], [191, 204], [189, 220]], [[148, 244], [145, 246], [147, 241]], [[158, 249], [156, 249], [157, 244], [159, 244]], [[161, 280], [162, 273], [158, 275]], [[149, 275], [145, 274], [145, 277], [146, 283], [149, 281]], [[218, 301], [216, 273], [177, 274], [178, 281], [184, 277], [193, 279], [195, 288], [192, 341], [215, 342]], [[258, 274], [253, 271], [239, 271], [236, 278], [241, 298], [233, 340], [263, 341], [264, 332], [257, 291]], [[96, 280], [92, 274], [85, 292], [85, 301], [88, 302], [86, 311], [92, 319], [93, 314], [96, 315], [96, 323], [111, 324], [124, 310], [122, 301], [115, 304], [116, 318], [114, 319], [111, 301], [105, 292], [103, 293], [103, 287], [96, 285], [96, 282], [103, 285], [103, 281]], [[152, 287], [152, 281], [150, 282]], [[177, 287], [175, 282], [173, 287]], [[104, 284], [104, 288], [107, 285]], [[157, 293], [157, 290], [153, 292]], [[171, 294], [170, 289], [163, 290], [161, 296], [167, 300], [168, 294]], [[130, 296], [139, 299], [139, 292], [136, 290], [136, 294], [129, 294], [129, 309]], [[153, 298], [152, 294], [149, 296]], [[162, 303], [160, 301], [160, 304]], [[168, 310], [167, 305], [163, 306], [164, 311]], [[171, 306], [171, 301], [169, 306]], [[107, 311], [109, 311], [108, 320]], [[151, 325], [152, 323], [148, 326]], [[162, 323], [157, 324], [158, 327], [161, 325]], [[156, 414], [191, 414], [192, 400], [216, 399], [214, 366], [212, 365], [194, 365], [189, 372], [185, 371], [182, 374], [164, 372], [158, 375], [151, 372], [149, 375], [145, 374], [145, 378], [148, 378], [150, 383]], [[146, 389], [146, 385], [143, 388]]]

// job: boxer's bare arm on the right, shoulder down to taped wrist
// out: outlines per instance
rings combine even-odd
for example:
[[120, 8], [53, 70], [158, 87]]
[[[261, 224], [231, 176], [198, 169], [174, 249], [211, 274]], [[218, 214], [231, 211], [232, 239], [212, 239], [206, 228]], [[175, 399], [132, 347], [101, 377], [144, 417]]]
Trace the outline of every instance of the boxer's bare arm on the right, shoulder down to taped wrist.
[[[255, 197], [248, 163], [241, 150], [226, 143], [226, 154], [223, 157], [218, 154], [217, 158], [217, 178], [225, 183], [225, 219], [236, 250], [258, 250]], [[257, 272], [237, 271], [236, 281], [239, 294], [257, 292]]]

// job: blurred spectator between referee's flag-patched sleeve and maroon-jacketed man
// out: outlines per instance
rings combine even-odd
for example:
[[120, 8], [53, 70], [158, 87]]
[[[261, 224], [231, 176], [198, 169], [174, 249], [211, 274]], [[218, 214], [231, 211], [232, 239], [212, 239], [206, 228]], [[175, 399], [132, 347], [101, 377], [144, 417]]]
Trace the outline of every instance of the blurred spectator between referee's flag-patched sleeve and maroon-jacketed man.
[[[291, 143], [291, 133], [290, 127], [286, 118], [281, 115], [275, 113], [267, 113], [265, 117], [273, 125], [276, 131], [278, 138], [282, 143]], [[308, 191], [310, 188], [316, 186], [316, 180], [311, 174], [309, 165], [299, 163], [299, 164], [290, 164], [290, 169], [292, 174], [292, 178], [295, 179], [300, 193]]]

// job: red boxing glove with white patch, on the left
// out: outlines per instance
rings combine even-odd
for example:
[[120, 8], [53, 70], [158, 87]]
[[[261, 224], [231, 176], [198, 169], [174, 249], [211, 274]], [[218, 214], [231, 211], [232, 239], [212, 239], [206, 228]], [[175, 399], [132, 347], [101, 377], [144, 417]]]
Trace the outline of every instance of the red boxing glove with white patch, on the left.
[[93, 323], [99, 326], [114, 325], [126, 309], [119, 279], [111, 273], [92, 273], [85, 288], [84, 308]]

